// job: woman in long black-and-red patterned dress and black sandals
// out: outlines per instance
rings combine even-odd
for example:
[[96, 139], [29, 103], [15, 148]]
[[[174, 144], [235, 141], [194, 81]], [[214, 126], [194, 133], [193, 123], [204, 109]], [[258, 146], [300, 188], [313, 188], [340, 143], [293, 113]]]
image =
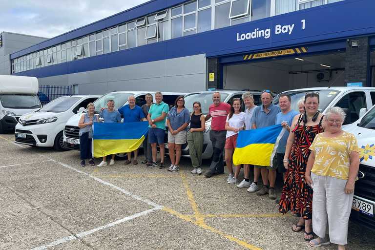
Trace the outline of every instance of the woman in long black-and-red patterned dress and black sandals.
[[316, 134], [323, 132], [323, 115], [318, 111], [319, 94], [309, 92], [305, 95], [305, 113], [294, 117], [289, 133], [284, 156], [284, 167], [287, 169], [285, 183], [279, 202], [282, 214], [291, 210], [300, 217], [292, 226], [294, 232], [305, 229], [304, 239], [313, 238], [312, 219], [312, 188], [307, 185], [305, 171], [310, 155], [309, 147]]

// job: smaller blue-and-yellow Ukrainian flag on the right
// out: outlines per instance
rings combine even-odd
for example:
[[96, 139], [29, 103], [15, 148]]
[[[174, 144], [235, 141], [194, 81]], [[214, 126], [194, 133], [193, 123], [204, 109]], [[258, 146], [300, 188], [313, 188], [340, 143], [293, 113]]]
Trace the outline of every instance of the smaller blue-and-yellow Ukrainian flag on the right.
[[281, 125], [241, 130], [234, 149], [233, 164], [272, 166], [272, 159], [284, 132]]

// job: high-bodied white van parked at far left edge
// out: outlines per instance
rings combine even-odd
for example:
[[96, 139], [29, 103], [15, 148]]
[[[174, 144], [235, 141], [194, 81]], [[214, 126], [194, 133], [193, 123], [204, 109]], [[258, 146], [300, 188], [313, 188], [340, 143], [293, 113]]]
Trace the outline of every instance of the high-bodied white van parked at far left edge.
[[0, 75], [0, 134], [14, 131], [21, 115], [42, 107], [35, 77]]

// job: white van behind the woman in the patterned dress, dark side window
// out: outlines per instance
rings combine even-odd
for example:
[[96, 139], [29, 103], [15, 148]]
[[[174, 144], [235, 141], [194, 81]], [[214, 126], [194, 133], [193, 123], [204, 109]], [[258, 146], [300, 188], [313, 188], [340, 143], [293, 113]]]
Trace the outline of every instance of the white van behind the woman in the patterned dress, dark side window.
[[[375, 104], [375, 87], [314, 87], [288, 90], [282, 94], [291, 96], [292, 109], [298, 111], [298, 101], [309, 92], [319, 93], [322, 113], [333, 106], [343, 108], [347, 114], [344, 125], [354, 123]], [[279, 96], [273, 98], [273, 104], [279, 103]]]

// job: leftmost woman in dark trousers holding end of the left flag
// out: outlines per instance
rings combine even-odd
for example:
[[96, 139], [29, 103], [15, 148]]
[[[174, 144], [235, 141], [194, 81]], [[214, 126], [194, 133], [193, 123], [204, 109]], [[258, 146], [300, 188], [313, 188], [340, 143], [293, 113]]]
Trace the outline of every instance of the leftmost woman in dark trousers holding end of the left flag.
[[92, 123], [98, 122], [98, 117], [94, 114], [95, 106], [92, 103], [87, 104], [87, 113], [81, 116], [78, 122], [80, 128], [80, 147], [81, 147], [81, 167], [86, 166], [86, 159], [88, 165], [95, 166], [94, 160], [92, 159], [91, 142], [92, 142]]

